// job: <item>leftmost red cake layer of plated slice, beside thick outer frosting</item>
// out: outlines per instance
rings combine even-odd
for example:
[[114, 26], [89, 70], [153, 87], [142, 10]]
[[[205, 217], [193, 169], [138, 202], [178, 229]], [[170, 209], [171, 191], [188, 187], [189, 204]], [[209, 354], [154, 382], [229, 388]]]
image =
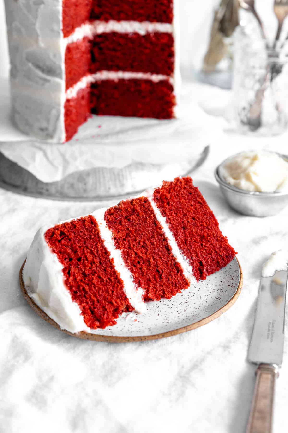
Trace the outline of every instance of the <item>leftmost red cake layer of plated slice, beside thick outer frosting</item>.
[[63, 265], [65, 284], [87, 326], [114, 325], [119, 314], [133, 310], [93, 216], [52, 227], [44, 236]]

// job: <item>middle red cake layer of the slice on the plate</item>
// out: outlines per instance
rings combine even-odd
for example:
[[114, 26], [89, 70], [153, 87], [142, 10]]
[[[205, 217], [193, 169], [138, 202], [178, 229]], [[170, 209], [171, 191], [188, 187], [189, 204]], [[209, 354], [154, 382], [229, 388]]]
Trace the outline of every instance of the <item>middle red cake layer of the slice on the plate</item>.
[[170, 299], [189, 285], [145, 197], [120, 202], [105, 212], [114, 244], [145, 300]]

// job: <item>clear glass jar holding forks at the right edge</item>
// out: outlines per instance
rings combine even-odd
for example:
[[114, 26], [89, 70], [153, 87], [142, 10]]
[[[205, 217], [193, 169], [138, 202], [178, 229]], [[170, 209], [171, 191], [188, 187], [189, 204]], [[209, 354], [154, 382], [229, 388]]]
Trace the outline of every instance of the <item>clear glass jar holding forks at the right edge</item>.
[[[273, 44], [272, 44], [273, 45]], [[288, 126], [288, 53], [243, 26], [234, 34], [233, 106], [237, 129], [260, 136]]]

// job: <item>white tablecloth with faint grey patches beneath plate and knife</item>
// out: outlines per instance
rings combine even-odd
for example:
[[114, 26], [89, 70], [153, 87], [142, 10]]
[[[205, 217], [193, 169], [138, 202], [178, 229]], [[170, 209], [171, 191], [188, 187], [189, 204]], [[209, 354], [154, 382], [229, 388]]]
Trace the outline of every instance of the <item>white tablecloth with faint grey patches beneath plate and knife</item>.
[[[201, 107], [228, 118], [228, 91], [194, 85]], [[287, 153], [288, 135], [251, 139], [223, 124], [227, 128], [194, 180], [238, 251], [243, 289], [221, 317], [178, 336], [97, 343], [68, 336], [41, 320], [19, 287], [19, 269], [35, 232], [44, 223], [103, 204], [61, 203], [0, 190], [0, 433], [245, 431], [255, 381], [255, 367], [246, 357], [261, 266], [273, 251], [288, 245], [288, 208], [263, 219], [237, 214], [221, 196], [213, 170], [241, 150]], [[286, 341], [276, 385], [275, 432], [288, 429], [287, 349]]]

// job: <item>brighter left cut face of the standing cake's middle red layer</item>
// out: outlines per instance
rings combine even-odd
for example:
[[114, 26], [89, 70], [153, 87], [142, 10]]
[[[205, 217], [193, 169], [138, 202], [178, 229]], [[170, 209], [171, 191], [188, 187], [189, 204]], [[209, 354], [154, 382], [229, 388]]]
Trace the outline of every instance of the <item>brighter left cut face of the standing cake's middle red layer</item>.
[[66, 90], [76, 84], [91, 69], [91, 42], [88, 38], [68, 44], [65, 51]]

